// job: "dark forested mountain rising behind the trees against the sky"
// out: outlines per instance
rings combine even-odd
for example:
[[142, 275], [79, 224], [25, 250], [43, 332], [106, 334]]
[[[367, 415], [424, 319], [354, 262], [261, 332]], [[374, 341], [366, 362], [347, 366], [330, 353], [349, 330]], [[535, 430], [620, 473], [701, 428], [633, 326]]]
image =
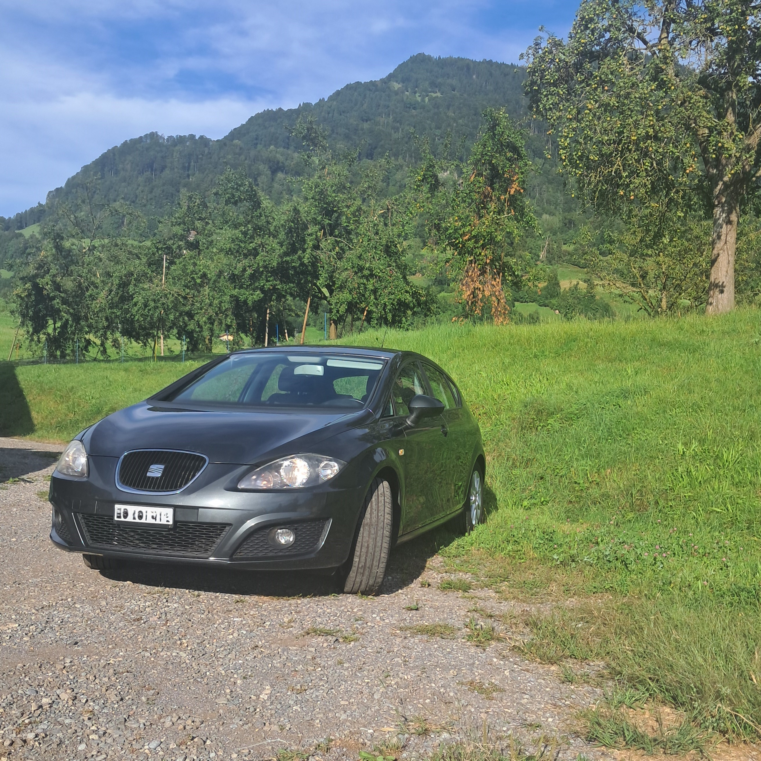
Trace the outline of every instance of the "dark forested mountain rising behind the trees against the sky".
[[226, 166], [245, 167], [279, 201], [291, 192], [288, 177], [301, 173], [302, 145], [287, 129], [299, 116], [314, 116], [333, 149], [355, 148], [365, 159], [389, 154], [409, 164], [416, 159], [412, 130], [433, 145], [450, 131], [453, 145], [464, 136], [468, 146], [486, 107], [505, 106], [514, 118], [525, 116], [524, 76], [514, 65], [419, 53], [383, 79], [347, 84], [317, 103], [257, 113], [220, 140], [156, 132], [127, 140], [48, 193], [45, 204], [0, 218], [0, 228], [17, 231], [43, 221], [88, 177], [100, 177], [104, 200], [129, 202], [148, 217], [166, 215], [183, 189], [205, 193]]

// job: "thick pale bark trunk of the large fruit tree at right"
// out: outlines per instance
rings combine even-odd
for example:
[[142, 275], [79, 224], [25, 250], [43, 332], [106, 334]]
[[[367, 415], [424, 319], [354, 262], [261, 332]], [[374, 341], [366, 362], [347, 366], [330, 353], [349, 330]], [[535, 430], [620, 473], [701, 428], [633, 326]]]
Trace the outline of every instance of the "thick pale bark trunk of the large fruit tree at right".
[[740, 204], [734, 193], [714, 197], [714, 230], [711, 240], [711, 276], [705, 314], [734, 309], [734, 252]]

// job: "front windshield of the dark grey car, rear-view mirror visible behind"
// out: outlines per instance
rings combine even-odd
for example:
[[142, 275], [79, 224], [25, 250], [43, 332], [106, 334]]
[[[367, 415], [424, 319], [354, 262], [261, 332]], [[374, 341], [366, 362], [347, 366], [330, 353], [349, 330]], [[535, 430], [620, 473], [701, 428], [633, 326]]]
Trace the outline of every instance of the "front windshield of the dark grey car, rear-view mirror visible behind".
[[384, 359], [345, 354], [234, 354], [167, 401], [361, 409]]

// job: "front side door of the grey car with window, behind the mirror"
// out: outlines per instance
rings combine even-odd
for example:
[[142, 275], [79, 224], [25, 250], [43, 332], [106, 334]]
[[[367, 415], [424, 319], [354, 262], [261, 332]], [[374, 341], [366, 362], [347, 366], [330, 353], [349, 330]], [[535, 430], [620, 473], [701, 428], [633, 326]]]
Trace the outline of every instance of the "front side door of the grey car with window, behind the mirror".
[[[410, 361], [396, 374], [391, 391], [394, 414], [399, 425], [409, 416], [409, 401], [419, 393], [428, 393], [425, 376], [416, 361]], [[447, 473], [441, 416], [420, 420], [405, 427], [404, 511], [402, 531], [408, 533], [435, 521], [447, 512]]]

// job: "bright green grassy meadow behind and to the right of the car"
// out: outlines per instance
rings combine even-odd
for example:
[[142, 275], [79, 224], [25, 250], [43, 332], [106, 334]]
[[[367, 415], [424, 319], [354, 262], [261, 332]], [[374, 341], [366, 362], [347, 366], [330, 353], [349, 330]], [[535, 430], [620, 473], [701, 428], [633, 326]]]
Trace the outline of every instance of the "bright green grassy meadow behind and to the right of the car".
[[[761, 736], [761, 312], [385, 345], [447, 368], [484, 435], [488, 521], [442, 554], [500, 594], [577, 600], [527, 619], [524, 653], [607, 662], [597, 734], [626, 735], [617, 705], [661, 701], [700, 732]], [[193, 365], [0, 367], [0, 428], [65, 440]]]

